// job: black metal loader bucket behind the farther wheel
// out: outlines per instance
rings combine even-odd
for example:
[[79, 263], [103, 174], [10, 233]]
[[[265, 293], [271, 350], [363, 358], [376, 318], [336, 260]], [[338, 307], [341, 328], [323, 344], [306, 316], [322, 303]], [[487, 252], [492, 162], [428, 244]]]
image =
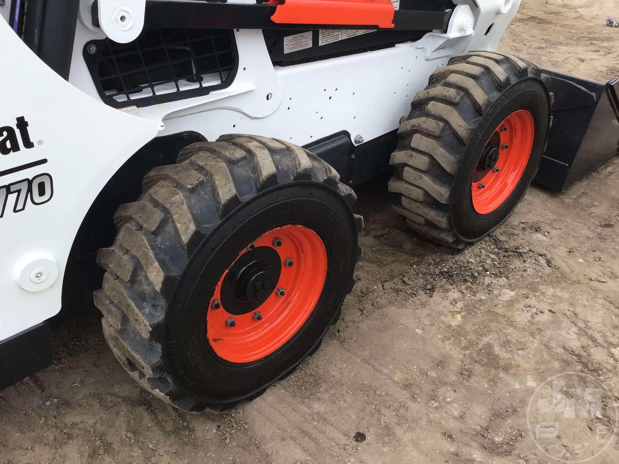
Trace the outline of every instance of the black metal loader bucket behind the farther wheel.
[[619, 79], [607, 84], [553, 71], [553, 125], [535, 183], [564, 192], [618, 152]]

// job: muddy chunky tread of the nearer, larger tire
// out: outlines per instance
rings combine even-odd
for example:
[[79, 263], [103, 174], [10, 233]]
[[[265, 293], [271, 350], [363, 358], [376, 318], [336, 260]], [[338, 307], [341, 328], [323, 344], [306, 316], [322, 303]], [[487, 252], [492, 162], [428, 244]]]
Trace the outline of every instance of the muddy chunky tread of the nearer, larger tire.
[[[250, 194], [242, 195], [237, 186], [249, 178], [254, 182], [243, 188]], [[256, 135], [228, 134], [216, 142], [183, 148], [176, 165], [154, 168], [145, 176], [136, 202], [119, 207], [115, 242], [98, 254], [106, 273], [93, 299], [103, 314], [103, 333], [115, 357], [144, 389], [186, 411], [219, 412], [233, 406], [190, 398], [167, 373], [162, 325], [170, 289], [197, 244], [242, 200], [278, 183], [299, 180], [331, 187], [349, 207], [357, 198], [339, 182], [337, 171], [301, 147]], [[216, 212], [201, 210], [198, 204], [205, 195], [210, 195]], [[217, 219], [212, 225], [199, 220], [211, 216]], [[354, 221], [359, 232], [363, 218], [354, 215]]]

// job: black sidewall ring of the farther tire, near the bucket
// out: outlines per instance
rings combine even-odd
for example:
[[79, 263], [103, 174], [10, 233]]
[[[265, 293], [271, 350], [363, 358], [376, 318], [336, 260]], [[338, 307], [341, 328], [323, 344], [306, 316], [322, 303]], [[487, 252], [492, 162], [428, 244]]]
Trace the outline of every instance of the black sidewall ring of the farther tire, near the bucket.
[[[527, 110], [533, 117], [535, 135], [527, 166], [509, 197], [491, 213], [480, 214], [473, 206], [471, 184], [475, 166], [496, 127], [511, 113]], [[542, 159], [550, 126], [550, 97], [542, 80], [529, 77], [516, 82], [483, 115], [461, 158], [451, 192], [452, 228], [463, 241], [472, 243], [495, 230], [511, 215], [527, 192]]]

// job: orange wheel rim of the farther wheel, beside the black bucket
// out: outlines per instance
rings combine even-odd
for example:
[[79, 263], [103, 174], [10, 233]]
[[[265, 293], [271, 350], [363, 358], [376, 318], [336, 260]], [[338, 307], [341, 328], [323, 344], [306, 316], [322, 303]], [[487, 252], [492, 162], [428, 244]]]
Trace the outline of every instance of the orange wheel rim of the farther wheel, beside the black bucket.
[[471, 192], [477, 213], [491, 213], [508, 199], [529, 163], [534, 138], [533, 116], [526, 110], [515, 111], [496, 128], [473, 174]]

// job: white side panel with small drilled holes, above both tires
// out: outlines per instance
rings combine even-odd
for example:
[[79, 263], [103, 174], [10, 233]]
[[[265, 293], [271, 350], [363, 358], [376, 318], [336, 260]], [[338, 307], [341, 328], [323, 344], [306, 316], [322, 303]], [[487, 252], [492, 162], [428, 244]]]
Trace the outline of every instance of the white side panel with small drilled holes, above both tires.
[[[452, 21], [457, 27], [451, 31], [452, 34], [428, 34], [433, 36], [430, 43], [425, 41], [425, 37], [420, 41], [402, 38], [401, 43], [389, 48], [366, 51], [371, 47], [360, 45], [358, 49], [347, 49], [347, 56], [319, 56], [321, 59], [317, 61], [290, 66], [274, 66], [271, 62], [273, 56], [292, 56], [297, 53], [291, 52], [290, 48], [285, 49], [287, 41], [297, 43], [300, 52], [309, 50], [304, 48], [306, 46], [318, 46], [318, 49], [324, 48], [328, 54], [327, 50], [334, 44], [351, 43], [358, 37], [352, 30], [332, 31], [330, 35], [316, 32], [311, 33], [311, 37], [318, 43], [312, 44], [310, 41], [302, 45], [306, 32], [290, 31], [290, 35], [277, 45], [273, 45], [270, 40], [267, 40], [267, 45], [261, 30], [236, 29], [235, 59], [238, 60], [238, 71], [233, 82], [229, 78], [225, 79], [225, 88], [193, 97], [191, 92], [201, 92], [199, 84], [180, 79], [176, 84], [187, 90], [177, 92], [176, 99], [157, 105], [145, 105], [140, 100], [153, 97], [149, 97], [152, 95], [151, 83], [144, 80], [144, 77], [143, 82], [137, 82], [140, 87], [135, 87], [127, 96], [131, 101], [124, 100], [124, 105], [131, 114], [163, 121], [165, 129], [161, 135], [191, 130], [204, 135], [208, 140], [215, 140], [228, 132], [244, 132], [285, 138], [295, 144], [306, 145], [335, 132], [347, 131], [352, 139], [361, 135], [365, 141], [373, 140], [397, 129], [399, 119], [408, 113], [415, 93], [427, 84], [428, 75], [434, 69], [444, 66], [452, 54], [468, 49], [495, 49], [520, 2], [458, 0], [456, 3], [466, 6], [472, 12], [470, 14], [474, 17], [470, 24], [459, 22], [454, 14]], [[461, 30], [464, 27], [462, 24], [470, 27], [470, 30]], [[369, 36], [374, 32], [363, 33]], [[194, 41], [191, 37], [185, 40], [184, 34], [181, 34], [183, 40], [178, 43], [193, 48], [193, 44], [201, 43], [201, 39]], [[70, 82], [94, 98], [100, 97], [84, 64], [84, 49], [90, 41], [101, 38], [102, 35], [84, 24], [77, 25]], [[155, 45], [155, 42], [149, 41], [150, 48]], [[429, 45], [432, 49], [428, 49]], [[274, 49], [273, 46], [279, 48]], [[98, 48], [93, 54], [97, 53]], [[176, 49], [175, 53], [180, 52]], [[199, 53], [206, 56], [209, 51], [201, 49]], [[124, 56], [128, 58], [131, 53]], [[186, 76], [193, 72], [199, 74], [200, 63], [196, 61], [196, 65], [195, 69], [188, 67], [180, 75]], [[207, 82], [208, 76], [202, 75], [203, 82]], [[106, 82], [110, 81], [106, 84], [109, 87], [111, 80], [106, 79]], [[191, 79], [194, 80], [193, 77]], [[217, 82], [220, 82], [219, 78]], [[124, 92], [128, 84], [131, 85], [131, 82], [124, 82], [124, 87], [119, 84], [118, 88]], [[123, 106], [123, 101], [118, 101], [121, 98], [120, 95], [115, 97], [118, 106]], [[169, 100], [158, 93], [155, 98]], [[132, 108], [131, 105], [139, 108]], [[303, 124], [297, 121], [303, 121]]]

